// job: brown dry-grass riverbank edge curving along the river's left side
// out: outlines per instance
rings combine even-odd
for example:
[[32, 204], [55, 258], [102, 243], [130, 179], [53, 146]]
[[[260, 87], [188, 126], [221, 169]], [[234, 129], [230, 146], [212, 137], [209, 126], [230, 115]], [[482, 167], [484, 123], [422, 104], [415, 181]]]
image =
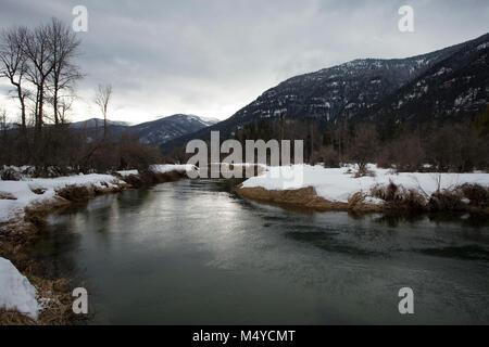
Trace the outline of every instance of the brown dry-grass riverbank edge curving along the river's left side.
[[72, 311], [70, 279], [46, 279], [36, 273], [41, 265], [29, 258], [27, 248], [37, 242], [47, 224], [46, 218], [75, 203], [88, 202], [97, 196], [141, 189], [154, 184], [175, 182], [188, 178], [181, 169], [167, 172], [151, 170], [122, 176], [113, 174], [111, 188], [91, 185], [67, 185], [57, 191], [48, 201], [34, 203], [24, 208], [23, 217], [0, 223], [0, 257], [9, 259], [15, 268], [36, 287], [39, 298], [47, 298], [37, 321], [16, 310], [0, 309], [0, 325], [70, 325], [75, 321]]

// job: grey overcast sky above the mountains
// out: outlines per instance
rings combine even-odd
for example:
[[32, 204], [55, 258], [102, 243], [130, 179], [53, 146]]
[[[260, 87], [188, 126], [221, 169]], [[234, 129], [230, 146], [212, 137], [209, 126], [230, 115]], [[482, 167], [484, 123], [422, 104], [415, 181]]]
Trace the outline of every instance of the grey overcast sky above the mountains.
[[[405, 57], [489, 31], [487, 0], [0, 0], [0, 25], [88, 10], [78, 64], [87, 75], [72, 120], [100, 117], [98, 83], [113, 85], [110, 118], [141, 123], [175, 113], [221, 119], [298, 74], [358, 57]], [[398, 10], [414, 9], [414, 33]], [[0, 86], [0, 105], [16, 104]]]

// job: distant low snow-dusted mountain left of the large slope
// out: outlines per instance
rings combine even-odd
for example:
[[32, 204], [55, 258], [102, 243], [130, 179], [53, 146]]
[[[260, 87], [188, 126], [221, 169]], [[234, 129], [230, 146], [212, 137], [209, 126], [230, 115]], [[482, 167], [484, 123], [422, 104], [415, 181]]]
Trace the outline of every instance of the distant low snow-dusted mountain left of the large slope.
[[[162, 117], [134, 126], [125, 121], [108, 120], [108, 133], [112, 138], [118, 138], [123, 132], [127, 132], [138, 136], [143, 143], [161, 145], [170, 140], [206, 128], [217, 121], [212, 118], [206, 119], [196, 115], [184, 114]], [[97, 137], [103, 131], [103, 119], [91, 118], [72, 123], [70, 126], [74, 129], [88, 131], [92, 137]]]

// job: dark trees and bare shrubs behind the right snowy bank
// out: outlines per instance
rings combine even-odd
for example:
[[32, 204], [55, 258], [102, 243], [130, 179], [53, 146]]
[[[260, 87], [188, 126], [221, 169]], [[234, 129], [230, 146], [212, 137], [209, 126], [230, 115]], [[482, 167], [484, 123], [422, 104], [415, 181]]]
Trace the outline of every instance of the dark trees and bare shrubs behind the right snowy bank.
[[316, 119], [261, 118], [237, 129], [234, 138], [246, 140], [303, 140], [304, 162], [338, 167], [367, 163], [398, 171], [466, 172], [489, 167], [489, 105], [472, 118], [425, 124], [369, 123], [322, 124]]

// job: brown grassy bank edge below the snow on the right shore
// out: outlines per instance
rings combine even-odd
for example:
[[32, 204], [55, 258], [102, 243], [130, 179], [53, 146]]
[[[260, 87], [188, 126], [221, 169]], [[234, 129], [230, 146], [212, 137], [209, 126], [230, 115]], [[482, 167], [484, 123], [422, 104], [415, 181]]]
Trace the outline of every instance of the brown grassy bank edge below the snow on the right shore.
[[[392, 187], [386, 185], [376, 188], [377, 194], [389, 193]], [[402, 187], [396, 187], [402, 191]], [[482, 188], [484, 189], [484, 188]], [[486, 189], [489, 191], [488, 189]], [[423, 197], [419, 193], [412, 190], [399, 200], [381, 200], [376, 197], [377, 202], [368, 201], [367, 194], [356, 192], [350, 196], [348, 203], [331, 202], [318, 196], [314, 187], [306, 187], [293, 190], [267, 190], [262, 187], [244, 188], [238, 184], [235, 192], [244, 198], [256, 202], [284, 205], [289, 207], [309, 208], [317, 211], [348, 211], [355, 214], [413, 214], [413, 213], [468, 213], [489, 217], [489, 207], [474, 206], [462, 203], [462, 196], [456, 194], [456, 190], [437, 192], [429, 197]]]

